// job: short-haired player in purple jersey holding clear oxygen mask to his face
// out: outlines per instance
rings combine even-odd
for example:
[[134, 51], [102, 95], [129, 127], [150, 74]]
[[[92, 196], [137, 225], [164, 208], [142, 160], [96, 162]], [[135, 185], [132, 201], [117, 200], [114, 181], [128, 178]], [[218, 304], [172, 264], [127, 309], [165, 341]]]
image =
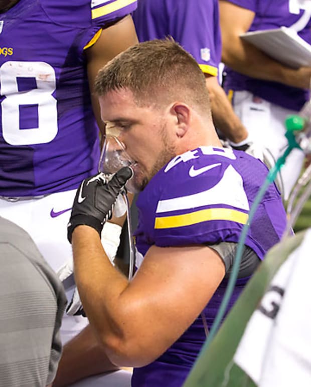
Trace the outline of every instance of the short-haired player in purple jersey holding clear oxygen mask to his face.
[[[181, 386], [213, 324], [268, 170], [245, 152], [222, 148], [205, 77], [172, 40], [124, 51], [99, 72], [95, 90], [107, 134], [117, 136], [134, 163], [107, 184], [100, 174], [84, 180], [84, 200], [76, 195], [72, 209], [76, 283], [100, 344], [90, 340], [113, 363], [134, 367], [132, 386]], [[141, 190], [131, 281], [100, 243], [129, 178]], [[271, 184], [250, 225], [229, 308], [285, 226]]]

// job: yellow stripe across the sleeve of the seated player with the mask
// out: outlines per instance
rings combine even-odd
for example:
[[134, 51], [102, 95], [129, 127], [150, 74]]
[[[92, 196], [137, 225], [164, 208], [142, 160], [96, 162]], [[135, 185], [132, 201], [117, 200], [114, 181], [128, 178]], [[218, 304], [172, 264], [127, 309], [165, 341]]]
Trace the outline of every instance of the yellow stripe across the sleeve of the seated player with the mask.
[[246, 224], [248, 220], [248, 214], [245, 214], [241, 211], [232, 210], [230, 208], [209, 208], [184, 215], [156, 218], [154, 222], [154, 228], [160, 229], [190, 226], [192, 224], [206, 222], [208, 220], [231, 220], [232, 222]]

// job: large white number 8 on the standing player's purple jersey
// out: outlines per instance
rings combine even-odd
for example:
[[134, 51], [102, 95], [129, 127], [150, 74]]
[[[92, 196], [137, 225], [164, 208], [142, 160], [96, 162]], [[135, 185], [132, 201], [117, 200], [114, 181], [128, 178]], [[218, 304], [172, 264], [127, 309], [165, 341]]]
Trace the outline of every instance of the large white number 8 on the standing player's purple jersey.
[[[33, 78], [37, 88], [19, 90], [18, 78]], [[45, 62], [4, 63], [0, 68], [3, 137], [11, 145], [44, 144], [58, 132], [57, 101], [52, 96], [56, 89], [55, 71]], [[38, 126], [20, 128], [20, 107], [38, 106]]]

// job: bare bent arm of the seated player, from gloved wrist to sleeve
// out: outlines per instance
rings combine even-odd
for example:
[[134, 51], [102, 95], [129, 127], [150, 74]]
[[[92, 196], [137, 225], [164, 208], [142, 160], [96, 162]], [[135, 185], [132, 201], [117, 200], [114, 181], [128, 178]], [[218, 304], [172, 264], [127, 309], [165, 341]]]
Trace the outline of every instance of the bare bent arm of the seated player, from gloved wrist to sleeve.
[[98, 232], [72, 234], [81, 300], [110, 360], [142, 366], [161, 355], [200, 314], [225, 275], [219, 255], [203, 245], [152, 246], [132, 281], [107, 258]]

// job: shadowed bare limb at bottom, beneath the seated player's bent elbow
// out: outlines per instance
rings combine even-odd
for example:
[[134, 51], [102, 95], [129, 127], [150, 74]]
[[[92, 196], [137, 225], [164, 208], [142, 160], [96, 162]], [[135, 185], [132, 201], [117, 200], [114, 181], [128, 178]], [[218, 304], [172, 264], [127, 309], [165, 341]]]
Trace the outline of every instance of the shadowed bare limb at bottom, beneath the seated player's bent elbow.
[[87, 376], [116, 369], [118, 367], [107, 358], [91, 327], [87, 326], [64, 346], [52, 385], [64, 387]]

